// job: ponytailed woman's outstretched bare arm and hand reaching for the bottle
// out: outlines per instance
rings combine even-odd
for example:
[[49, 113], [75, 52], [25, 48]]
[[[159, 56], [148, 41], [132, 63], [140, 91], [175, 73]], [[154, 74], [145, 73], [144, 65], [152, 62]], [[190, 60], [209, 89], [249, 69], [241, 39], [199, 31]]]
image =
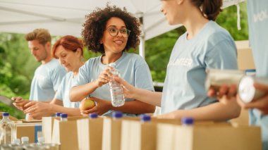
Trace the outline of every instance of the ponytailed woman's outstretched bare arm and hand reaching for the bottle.
[[120, 77], [114, 79], [123, 86], [124, 95], [130, 99], [138, 99], [139, 101], [151, 104], [153, 106], [161, 106], [162, 92], [152, 92], [146, 89], [133, 87]]

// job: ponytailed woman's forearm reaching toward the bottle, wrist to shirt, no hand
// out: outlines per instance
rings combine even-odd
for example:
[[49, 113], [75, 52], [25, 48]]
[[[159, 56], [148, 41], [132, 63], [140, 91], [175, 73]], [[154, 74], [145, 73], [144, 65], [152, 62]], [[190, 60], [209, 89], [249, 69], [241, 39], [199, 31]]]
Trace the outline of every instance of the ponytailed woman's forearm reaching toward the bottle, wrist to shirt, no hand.
[[161, 107], [162, 92], [152, 92], [147, 89], [138, 89], [135, 92], [135, 99], [153, 106]]

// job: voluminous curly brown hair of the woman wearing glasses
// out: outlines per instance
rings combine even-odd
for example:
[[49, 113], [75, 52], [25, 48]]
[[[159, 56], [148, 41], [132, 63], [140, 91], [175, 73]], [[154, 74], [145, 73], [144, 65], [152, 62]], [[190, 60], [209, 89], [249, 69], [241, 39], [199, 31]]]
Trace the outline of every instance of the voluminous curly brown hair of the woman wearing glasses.
[[85, 16], [86, 21], [83, 24], [82, 37], [89, 50], [95, 53], [105, 53], [104, 46], [100, 44], [100, 40], [104, 34], [107, 21], [112, 17], [121, 18], [126, 24], [126, 28], [131, 31], [123, 51], [128, 51], [131, 47], [135, 49], [140, 44], [140, 23], [138, 19], [128, 13], [126, 8], [122, 10], [107, 4], [106, 8], [96, 8], [92, 13]]

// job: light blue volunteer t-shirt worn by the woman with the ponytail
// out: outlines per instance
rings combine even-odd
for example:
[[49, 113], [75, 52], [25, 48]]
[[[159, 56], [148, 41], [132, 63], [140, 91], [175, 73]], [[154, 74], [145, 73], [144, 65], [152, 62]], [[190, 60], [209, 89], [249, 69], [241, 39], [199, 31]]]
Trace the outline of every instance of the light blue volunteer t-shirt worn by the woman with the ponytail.
[[237, 51], [233, 38], [214, 21], [209, 21], [193, 38], [187, 32], [179, 37], [166, 68], [162, 93], [162, 113], [207, 106], [206, 68], [237, 69]]

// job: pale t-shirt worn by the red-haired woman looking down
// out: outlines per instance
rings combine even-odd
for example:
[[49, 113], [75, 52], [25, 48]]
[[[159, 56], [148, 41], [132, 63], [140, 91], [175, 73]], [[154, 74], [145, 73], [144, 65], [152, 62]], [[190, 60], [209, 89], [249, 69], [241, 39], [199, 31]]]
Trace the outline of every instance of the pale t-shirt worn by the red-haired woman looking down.
[[75, 79], [77, 78], [73, 76], [73, 72], [67, 73], [59, 86], [58, 91], [56, 92], [55, 98], [63, 101], [63, 106], [67, 108], [79, 108], [80, 102], [71, 102], [70, 101], [70, 89], [73, 87], [75, 83]]

